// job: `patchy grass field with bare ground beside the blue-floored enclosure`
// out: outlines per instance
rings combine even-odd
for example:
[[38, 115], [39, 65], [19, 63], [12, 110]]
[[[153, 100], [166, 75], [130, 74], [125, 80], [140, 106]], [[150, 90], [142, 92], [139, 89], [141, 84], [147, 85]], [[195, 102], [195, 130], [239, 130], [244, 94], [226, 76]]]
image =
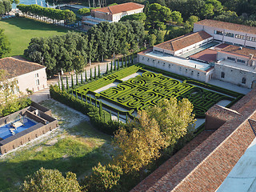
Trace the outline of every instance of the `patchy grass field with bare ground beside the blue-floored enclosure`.
[[[111, 137], [95, 130], [85, 116], [66, 106], [48, 100], [42, 103], [58, 118], [58, 134], [50, 132], [46, 139], [23, 146], [0, 158], [0, 191], [18, 191], [27, 174], [40, 167], [72, 171], [78, 178], [89, 174], [98, 162], [106, 164], [114, 154]], [[52, 136], [54, 134], [54, 136]]]

